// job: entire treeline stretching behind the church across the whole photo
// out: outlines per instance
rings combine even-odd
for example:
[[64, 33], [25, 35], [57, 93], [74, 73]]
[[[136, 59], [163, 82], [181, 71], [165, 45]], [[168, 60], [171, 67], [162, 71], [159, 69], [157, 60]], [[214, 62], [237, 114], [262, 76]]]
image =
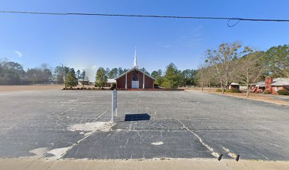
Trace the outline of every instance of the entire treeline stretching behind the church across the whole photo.
[[[166, 69], [152, 73], [141, 69], [154, 79], [155, 83], [165, 88], [180, 86], [219, 86], [222, 92], [229, 84], [236, 82], [249, 89], [264, 77], [289, 77], [289, 46], [271, 47], [266, 52], [242, 47], [237, 42], [222, 43], [216, 49], [206, 50], [205, 60], [198, 69], [179, 70], [171, 63]], [[115, 79], [128, 69], [99, 67], [96, 72], [96, 86], [102, 87], [107, 79]], [[76, 86], [78, 80], [89, 81], [84, 70], [57, 66], [51, 69], [47, 64], [25, 71], [17, 62], [0, 62], [0, 84], [66, 84]], [[69, 83], [69, 82], [70, 83]], [[247, 90], [248, 91], [248, 90]], [[248, 94], [249, 95], [249, 94]]]

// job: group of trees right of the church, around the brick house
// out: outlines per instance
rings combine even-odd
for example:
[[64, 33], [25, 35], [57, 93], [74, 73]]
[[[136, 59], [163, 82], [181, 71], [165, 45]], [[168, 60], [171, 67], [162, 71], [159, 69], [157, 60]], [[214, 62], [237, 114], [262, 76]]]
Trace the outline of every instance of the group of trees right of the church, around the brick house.
[[237, 42], [222, 43], [205, 52], [198, 69], [198, 85], [220, 86], [222, 93], [236, 82], [249, 89], [265, 77], [289, 77], [289, 46], [271, 47], [266, 52], [253, 50]]

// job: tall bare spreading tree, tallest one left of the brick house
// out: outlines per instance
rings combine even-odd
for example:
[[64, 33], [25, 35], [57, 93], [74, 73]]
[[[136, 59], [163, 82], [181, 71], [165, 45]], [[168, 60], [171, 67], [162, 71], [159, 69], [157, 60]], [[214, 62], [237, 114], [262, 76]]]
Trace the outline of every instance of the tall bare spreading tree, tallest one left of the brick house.
[[229, 87], [229, 81], [232, 80], [232, 74], [236, 70], [237, 59], [249, 52], [252, 52], [249, 47], [242, 49], [242, 45], [237, 42], [232, 44], [222, 43], [217, 50], [207, 50], [205, 52], [206, 60], [215, 68], [217, 79], [221, 84], [222, 94]]

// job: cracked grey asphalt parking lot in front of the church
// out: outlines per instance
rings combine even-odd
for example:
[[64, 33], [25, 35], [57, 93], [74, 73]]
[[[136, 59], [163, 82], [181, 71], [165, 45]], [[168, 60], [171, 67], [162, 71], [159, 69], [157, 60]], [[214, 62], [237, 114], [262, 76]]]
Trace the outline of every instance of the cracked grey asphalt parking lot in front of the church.
[[0, 157], [289, 160], [289, 107], [198, 91], [0, 93]]

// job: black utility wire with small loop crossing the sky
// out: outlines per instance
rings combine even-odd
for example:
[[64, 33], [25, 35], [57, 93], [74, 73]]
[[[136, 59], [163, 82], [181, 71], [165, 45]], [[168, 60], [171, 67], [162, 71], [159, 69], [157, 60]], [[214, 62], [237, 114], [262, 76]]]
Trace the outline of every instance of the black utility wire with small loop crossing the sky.
[[[0, 11], [0, 13], [22, 13], [55, 16], [123, 16], [123, 17], [142, 17], [142, 18], [181, 18], [181, 19], [205, 19], [205, 20], [227, 20], [227, 26], [236, 26], [239, 21], [263, 21], [263, 22], [289, 22], [289, 19], [266, 19], [266, 18], [229, 18], [229, 17], [202, 17], [202, 16], [157, 16], [157, 15], [129, 15], [129, 14], [110, 14], [110, 13], [48, 13], [30, 11]], [[230, 21], [237, 21], [230, 25]]]

